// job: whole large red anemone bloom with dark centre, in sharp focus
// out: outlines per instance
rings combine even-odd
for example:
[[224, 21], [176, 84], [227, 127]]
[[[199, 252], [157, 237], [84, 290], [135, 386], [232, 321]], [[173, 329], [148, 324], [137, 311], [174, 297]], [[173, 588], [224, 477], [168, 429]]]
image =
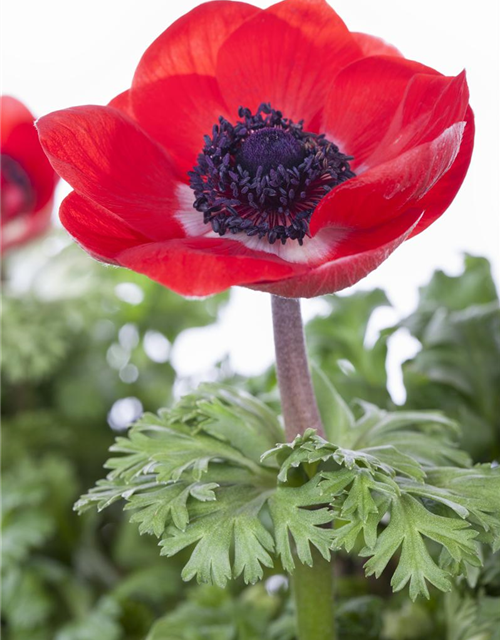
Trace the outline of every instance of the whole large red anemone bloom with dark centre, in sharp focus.
[[109, 106], [38, 122], [92, 256], [188, 296], [347, 287], [450, 205], [474, 138], [446, 77], [324, 0], [202, 4]]

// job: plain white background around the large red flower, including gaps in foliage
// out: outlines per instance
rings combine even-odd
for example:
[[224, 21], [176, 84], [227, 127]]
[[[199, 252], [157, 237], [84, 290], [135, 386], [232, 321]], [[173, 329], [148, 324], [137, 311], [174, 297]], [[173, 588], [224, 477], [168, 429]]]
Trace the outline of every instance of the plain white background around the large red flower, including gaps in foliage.
[[[193, 0], [2, 0], [1, 92], [21, 99], [36, 116], [76, 104], [106, 104], [130, 86], [134, 68], [154, 38], [197, 4]], [[408, 58], [447, 75], [466, 68], [477, 125], [471, 169], [447, 213], [350, 291], [382, 286], [401, 316], [412, 310], [418, 286], [436, 268], [448, 273], [460, 270], [463, 252], [487, 256], [500, 280], [500, 3], [337, 0], [331, 4], [351, 30], [383, 37]], [[65, 190], [61, 185], [60, 197]], [[305, 315], [317, 310], [318, 304], [304, 302]], [[394, 314], [380, 313], [372, 333], [393, 319]], [[221, 326], [209, 329], [208, 336], [206, 331], [190, 331], [180, 341], [174, 358], [185, 373], [195, 369], [200, 373], [224, 351], [242, 373], [257, 372], [272, 360], [266, 295], [235, 289]], [[241, 335], [259, 339], [243, 343]], [[391, 356], [393, 364], [412, 348], [408, 340], [400, 340]], [[193, 353], [196, 357], [189, 357]], [[397, 381], [393, 387], [400, 395]]]

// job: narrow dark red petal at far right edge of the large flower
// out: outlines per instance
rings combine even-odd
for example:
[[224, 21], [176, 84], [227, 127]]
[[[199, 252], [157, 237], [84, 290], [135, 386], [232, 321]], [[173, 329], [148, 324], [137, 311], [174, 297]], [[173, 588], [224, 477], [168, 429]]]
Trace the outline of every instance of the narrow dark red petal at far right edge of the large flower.
[[425, 213], [412, 232], [412, 236], [415, 236], [426, 229], [446, 211], [453, 202], [462, 182], [464, 181], [471, 161], [472, 149], [474, 147], [474, 114], [470, 107], [467, 109], [465, 121], [467, 124], [465, 126], [458, 156], [451, 166], [451, 169], [444, 174], [436, 186], [434, 186], [420, 201], [419, 204], [421, 207], [425, 208]]

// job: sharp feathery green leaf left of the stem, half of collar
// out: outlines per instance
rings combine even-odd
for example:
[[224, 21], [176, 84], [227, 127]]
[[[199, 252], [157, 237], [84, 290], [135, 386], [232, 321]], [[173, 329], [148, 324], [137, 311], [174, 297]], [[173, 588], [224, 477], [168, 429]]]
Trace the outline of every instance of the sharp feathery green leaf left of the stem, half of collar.
[[[273, 435], [274, 434], [274, 435]], [[277, 469], [258, 461], [282, 435], [261, 402], [224, 386], [202, 385], [172, 410], [147, 414], [118, 438], [106, 480], [75, 505], [103, 509], [125, 499], [140, 533], [161, 538], [162, 555], [193, 546], [182, 576], [225, 585], [256, 582], [272, 566], [272, 534], [261, 510], [276, 487]], [[234, 556], [234, 559], [233, 559]]]

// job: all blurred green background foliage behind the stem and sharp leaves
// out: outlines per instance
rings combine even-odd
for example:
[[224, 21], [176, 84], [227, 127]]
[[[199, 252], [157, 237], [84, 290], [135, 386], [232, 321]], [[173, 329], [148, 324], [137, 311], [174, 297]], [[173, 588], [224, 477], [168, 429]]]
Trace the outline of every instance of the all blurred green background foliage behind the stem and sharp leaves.
[[[160, 560], [154, 539], [139, 536], [121, 508], [72, 511], [102, 477], [114, 403], [136, 398], [148, 411], [171, 404], [177, 377], [170, 347], [183, 330], [215, 322], [227, 299], [186, 301], [132, 272], [98, 265], [73, 246], [44, 260], [28, 288], [6, 283], [0, 354], [6, 640], [293, 640], [289, 590], [271, 588], [279, 567], [255, 586], [186, 586], [180, 573], [188, 556]], [[328, 310], [307, 326], [311, 357], [357, 418], [356, 399], [394, 408], [386, 359], [393, 333], [406, 330], [420, 350], [403, 366], [404, 408], [438, 409], [455, 419], [475, 462], [500, 457], [500, 312], [486, 260], [466, 257], [459, 276], [436, 273], [415, 313], [369, 344], [373, 314], [389, 305], [385, 294], [325, 300]], [[272, 370], [249, 381], [227, 365], [222, 374], [279, 408]], [[432, 590], [428, 602], [389, 598], [387, 581], [362, 578], [361, 563], [344, 555], [337, 567], [344, 640], [499, 638], [498, 553], [452, 593]]]

